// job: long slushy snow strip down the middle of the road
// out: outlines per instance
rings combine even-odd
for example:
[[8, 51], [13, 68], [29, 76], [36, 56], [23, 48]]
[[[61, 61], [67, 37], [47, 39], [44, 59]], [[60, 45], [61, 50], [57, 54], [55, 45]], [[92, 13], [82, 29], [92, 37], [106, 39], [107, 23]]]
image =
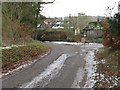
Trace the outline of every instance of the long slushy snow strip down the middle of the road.
[[52, 64], [50, 64], [45, 71], [43, 71], [40, 75], [37, 77], [33, 78], [30, 82], [22, 85], [20, 88], [44, 88], [51, 79], [53, 79], [61, 70], [63, 67], [65, 60], [68, 57], [76, 55], [77, 52], [75, 53], [70, 53], [70, 54], [62, 54], [56, 61], [54, 61]]

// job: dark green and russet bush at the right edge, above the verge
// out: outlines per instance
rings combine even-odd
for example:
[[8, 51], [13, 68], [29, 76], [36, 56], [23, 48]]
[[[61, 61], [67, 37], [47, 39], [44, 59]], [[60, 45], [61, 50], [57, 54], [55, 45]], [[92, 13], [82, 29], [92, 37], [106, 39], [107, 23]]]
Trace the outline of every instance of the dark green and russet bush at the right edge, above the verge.
[[[120, 14], [117, 13], [113, 18], [108, 20], [108, 24], [103, 30], [103, 45], [112, 49], [120, 48]], [[106, 26], [107, 25], [107, 26]]]

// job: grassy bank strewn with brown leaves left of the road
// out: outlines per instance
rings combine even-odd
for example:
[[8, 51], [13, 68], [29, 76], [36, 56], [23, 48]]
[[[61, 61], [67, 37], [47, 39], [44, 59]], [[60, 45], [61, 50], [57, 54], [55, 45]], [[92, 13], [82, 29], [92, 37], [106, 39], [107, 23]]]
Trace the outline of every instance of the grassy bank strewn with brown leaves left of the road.
[[27, 43], [24, 46], [12, 47], [11, 49], [2, 50], [2, 70], [16, 68], [16, 64], [20, 65], [23, 62], [34, 60], [39, 55], [46, 53], [49, 48], [40, 41]]

